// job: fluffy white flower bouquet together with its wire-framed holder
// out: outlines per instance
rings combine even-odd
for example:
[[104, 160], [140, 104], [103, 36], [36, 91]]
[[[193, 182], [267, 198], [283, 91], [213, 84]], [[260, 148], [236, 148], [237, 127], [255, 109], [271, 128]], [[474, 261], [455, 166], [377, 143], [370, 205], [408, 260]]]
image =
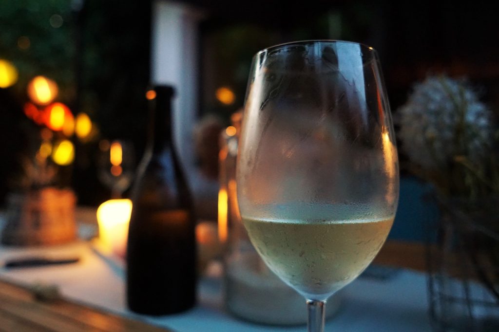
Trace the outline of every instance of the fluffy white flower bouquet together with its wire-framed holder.
[[428, 246], [433, 322], [440, 331], [499, 331], [494, 113], [466, 79], [430, 75], [414, 85], [395, 123], [406, 168], [433, 184], [441, 207], [437, 244]]

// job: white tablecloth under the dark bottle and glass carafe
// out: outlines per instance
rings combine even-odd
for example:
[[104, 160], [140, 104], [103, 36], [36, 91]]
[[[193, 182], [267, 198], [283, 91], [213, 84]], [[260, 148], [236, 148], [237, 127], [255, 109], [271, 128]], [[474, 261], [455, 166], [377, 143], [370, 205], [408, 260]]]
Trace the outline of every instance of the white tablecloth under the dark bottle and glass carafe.
[[[200, 280], [199, 301], [194, 309], [177, 315], [148, 317], [127, 310], [123, 266], [100, 255], [89, 242], [50, 248], [0, 246], [0, 262], [28, 254], [77, 255], [80, 261], [36, 268], [2, 267], [0, 278], [24, 285], [56, 284], [60, 293], [72, 301], [180, 332], [306, 331], [304, 325], [256, 325], [228, 314], [223, 304], [220, 264], [213, 263], [207, 275]], [[341, 309], [326, 321], [326, 331], [431, 331], [426, 282], [424, 274], [409, 270], [399, 270], [386, 279], [360, 277], [341, 292]]]

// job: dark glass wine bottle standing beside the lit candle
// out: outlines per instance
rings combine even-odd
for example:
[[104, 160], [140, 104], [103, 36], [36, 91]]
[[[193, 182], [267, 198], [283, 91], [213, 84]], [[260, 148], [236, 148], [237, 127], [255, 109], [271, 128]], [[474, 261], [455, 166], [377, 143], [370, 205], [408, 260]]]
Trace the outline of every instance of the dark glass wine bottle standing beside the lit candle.
[[196, 302], [195, 216], [173, 144], [174, 89], [154, 91], [148, 143], [131, 190], [126, 295], [131, 311], [166, 315]]

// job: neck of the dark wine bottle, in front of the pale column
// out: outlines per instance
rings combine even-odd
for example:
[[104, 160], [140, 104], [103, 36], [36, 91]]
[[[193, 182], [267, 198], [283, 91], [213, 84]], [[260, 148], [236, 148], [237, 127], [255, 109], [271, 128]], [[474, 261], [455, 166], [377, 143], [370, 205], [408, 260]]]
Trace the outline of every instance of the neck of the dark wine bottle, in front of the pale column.
[[156, 86], [156, 98], [150, 100], [151, 121], [149, 145], [153, 153], [161, 153], [173, 143], [172, 98], [170, 86]]

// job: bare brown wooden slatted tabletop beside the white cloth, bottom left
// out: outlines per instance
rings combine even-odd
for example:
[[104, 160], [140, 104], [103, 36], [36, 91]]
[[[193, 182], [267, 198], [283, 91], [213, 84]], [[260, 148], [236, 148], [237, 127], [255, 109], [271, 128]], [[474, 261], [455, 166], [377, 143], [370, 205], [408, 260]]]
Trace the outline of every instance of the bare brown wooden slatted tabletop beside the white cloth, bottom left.
[[169, 331], [62, 299], [36, 301], [29, 290], [0, 281], [0, 331], [2, 329], [53, 332]]

